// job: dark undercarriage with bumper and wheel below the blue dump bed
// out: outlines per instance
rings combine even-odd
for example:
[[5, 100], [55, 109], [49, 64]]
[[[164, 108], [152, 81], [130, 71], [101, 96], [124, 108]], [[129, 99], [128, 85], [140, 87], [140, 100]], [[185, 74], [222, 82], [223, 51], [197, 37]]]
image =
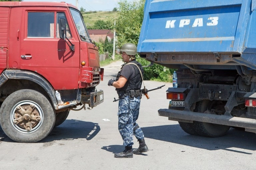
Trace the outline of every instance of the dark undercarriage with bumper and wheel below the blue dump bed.
[[[171, 99], [168, 109], [158, 110], [160, 116], [178, 121], [185, 132], [194, 135], [218, 137], [226, 134], [230, 126], [256, 132], [255, 109], [246, 105], [255, 96], [255, 71], [238, 63], [234, 65], [232, 61], [231, 65], [217, 65], [216, 57], [212, 58], [216, 65], [209, 66], [209, 69], [193, 62], [178, 64], [186, 57], [193, 58], [191, 55], [180, 55], [177, 65], [177, 58], [173, 57], [173, 63], [168, 64], [167, 60], [174, 55], [165, 56], [159, 64], [178, 69], [178, 88], [170, 87], [167, 93], [184, 97]], [[154, 60], [159, 61], [158, 57]]]

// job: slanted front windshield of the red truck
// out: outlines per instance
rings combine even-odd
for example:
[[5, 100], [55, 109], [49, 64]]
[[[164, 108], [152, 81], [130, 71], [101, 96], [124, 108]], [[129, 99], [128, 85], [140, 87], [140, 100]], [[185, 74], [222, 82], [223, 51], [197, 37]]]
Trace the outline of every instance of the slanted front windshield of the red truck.
[[89, 34], [85, 27], [81, 13], [73, 8], [70, 8], [70, 12], [71, 12], [74, 22], [76, 24], [76, 28], [81, 37], [81, 40], [86, 41], [86, 42], [91, 42], [91, 39], [89, 38]]

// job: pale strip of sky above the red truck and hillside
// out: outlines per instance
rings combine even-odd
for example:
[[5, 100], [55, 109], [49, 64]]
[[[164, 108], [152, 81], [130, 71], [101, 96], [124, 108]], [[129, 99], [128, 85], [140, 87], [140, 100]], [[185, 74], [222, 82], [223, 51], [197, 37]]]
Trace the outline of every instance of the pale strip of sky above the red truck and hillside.
[[[23, 0], [24, 2], [66, 2], [76, 6], [76, 0]], [[119, 0], [78, 0], [78, 9], [81, 7], [85, 11], [112, 11], [115, 7], [118, 7]], [[133, 2], [134, 0], [127, 0]], [[136, 1], [136, 0], [135, 0]]]

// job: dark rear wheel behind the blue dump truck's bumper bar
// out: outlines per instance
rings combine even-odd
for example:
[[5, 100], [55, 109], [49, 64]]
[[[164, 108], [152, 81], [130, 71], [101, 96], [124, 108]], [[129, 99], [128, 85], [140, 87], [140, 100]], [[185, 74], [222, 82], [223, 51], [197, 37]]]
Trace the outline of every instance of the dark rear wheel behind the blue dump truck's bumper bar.
[[[194, 111], [204, 113], [206, 110], [214, 109], [217, 106], [219, 107], [216, 101], [203, 100], [196, 104], [196, 108]], [[224, 109], [224, 105], [223, 105], [223, 109]], [[227, 126], [227, 125], [198, 122], [198, 121], [193, 122], [193, 127], [200, 136], [206, 136], [206, 137], [223, 136], [227, 133], [227, 131], [230, 128], [230, 126]]]

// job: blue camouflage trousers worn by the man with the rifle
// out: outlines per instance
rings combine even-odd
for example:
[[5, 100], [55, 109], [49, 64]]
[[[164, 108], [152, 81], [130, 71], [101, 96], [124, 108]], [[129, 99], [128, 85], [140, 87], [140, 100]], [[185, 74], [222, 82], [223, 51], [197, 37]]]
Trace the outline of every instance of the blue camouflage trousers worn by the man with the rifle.
[[133, 145], [133, 135], [138, 140], [144, 139], [141, 128], [136, 123], [139, 117], [140, 97], [126, 96], [118, 104], [118, 130], [123, 138], [124, 146]]

